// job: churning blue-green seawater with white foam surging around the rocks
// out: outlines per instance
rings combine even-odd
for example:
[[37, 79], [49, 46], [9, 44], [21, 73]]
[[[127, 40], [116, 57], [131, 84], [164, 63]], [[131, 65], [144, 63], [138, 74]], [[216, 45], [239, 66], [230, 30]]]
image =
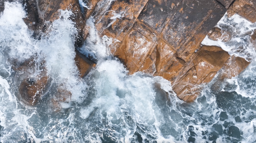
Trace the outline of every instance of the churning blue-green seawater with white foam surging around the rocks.
[[[33, 38], [22, 18], [19, 3], [5, 3], [0, 15], [0, 142], [2, 143], [255, 143], [256, 54], [250, 31], [256, 28], [238, 15], [224, 16], [218, 27], [232, 34], [228, 42], [211, 41], [229, 54], [245, 57], [251, 64], [243, 73], [226, 80], [219, 89], [214, 80], [195, 102], [186, 103], [172, 92], [162, 77], [127, 70], [106, 48], [112, 39], [99, 38], [92, 18], [90, 36], [82, 50], [94, 53], [97, 66], [84, 78], [74, 62], [74, 23], [62, 11], [48, 34]], [[238, 53], [239, 49], [239, 53]], [[34, 57], [45, 61], [51, 79], [48, 92], [34, 107], [18, 97], [16, 71], [10, 59], [22, 62]], [[40, 73], [34, 69], [34, 75]], [[72, 93], [61, 111], [54, 111], [54, 88]]]

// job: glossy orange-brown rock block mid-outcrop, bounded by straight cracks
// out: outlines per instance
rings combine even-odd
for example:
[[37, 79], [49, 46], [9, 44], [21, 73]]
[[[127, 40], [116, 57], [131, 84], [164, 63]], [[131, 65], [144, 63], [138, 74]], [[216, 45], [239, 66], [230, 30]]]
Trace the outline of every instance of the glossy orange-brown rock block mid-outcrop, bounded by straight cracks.
[[136, 22], [125, 36], [115, 56], [125, 63], [129, 73], [133, 74], [143, 64], [155, 43], [156, 35], [142, 23]]

